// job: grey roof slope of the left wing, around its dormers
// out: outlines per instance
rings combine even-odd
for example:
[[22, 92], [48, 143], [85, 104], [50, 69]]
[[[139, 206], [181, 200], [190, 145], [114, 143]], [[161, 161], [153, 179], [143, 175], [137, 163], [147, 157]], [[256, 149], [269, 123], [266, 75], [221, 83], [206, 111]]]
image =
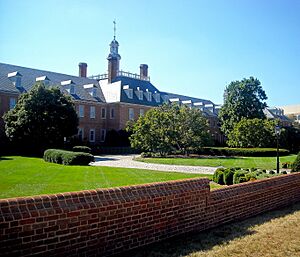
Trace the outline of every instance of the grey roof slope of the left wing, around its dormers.
[[[61, 86], [62, 81], [72, 80], [75, 87], [75, 95], [71, 95], [75, 100], [93, 101], [93, 102], [105, 102], [103, 93], [99, 87], [98, 81], [89, 78], [77, 77], [72, 75], [66, 75], [56, 72], [43, 71], [31, 68], [25, 68], [16, 65], [10, 65], [0, 63], [0, 91], [21, 93], [17, 89], [11, 80], [7, 77], [8, 73], [19, 72], [22, 75], [21, 86], [24, 90], [29, 91], [31, 87], [36, 83], [37, 77], [47, 76], [50, 80], [49, 85], [59, 86], [63, 92], [66, 92], [67, 86]], [[84, 88], [83, 85], [94, 84], [97, 86], [97, 96], [92, 97]]]

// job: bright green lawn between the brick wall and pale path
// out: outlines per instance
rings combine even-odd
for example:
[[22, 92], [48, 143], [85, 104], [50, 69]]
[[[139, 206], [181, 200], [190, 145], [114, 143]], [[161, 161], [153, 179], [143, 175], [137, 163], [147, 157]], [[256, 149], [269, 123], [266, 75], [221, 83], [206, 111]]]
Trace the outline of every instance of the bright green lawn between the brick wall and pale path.
[[[64, 166], [39, 158], [0, 157], [0, 198], [146, 184], [211, 175], [112, 167]], [[217, 185], [212, 184], [212, 188]]]

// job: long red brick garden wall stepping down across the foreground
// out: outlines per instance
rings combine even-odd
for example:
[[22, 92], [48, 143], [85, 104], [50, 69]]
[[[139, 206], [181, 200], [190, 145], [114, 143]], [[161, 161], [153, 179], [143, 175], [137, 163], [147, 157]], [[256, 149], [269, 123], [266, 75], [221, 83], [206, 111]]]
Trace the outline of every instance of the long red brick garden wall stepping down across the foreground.
[[209, 191], [208, 179], [0, 200], [2, 256], [109, 256], [300, 200], [300, 174]]

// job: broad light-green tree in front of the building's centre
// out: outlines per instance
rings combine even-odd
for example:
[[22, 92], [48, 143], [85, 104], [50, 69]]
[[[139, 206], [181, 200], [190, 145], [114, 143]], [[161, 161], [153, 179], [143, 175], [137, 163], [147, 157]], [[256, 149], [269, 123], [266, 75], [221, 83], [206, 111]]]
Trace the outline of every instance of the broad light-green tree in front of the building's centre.
[[207, 120], [196, 109], [163, 105], [149, 110], [127, 130], [131, 146], [166, 155], [173, 151], [188, 153], [209, 142]]

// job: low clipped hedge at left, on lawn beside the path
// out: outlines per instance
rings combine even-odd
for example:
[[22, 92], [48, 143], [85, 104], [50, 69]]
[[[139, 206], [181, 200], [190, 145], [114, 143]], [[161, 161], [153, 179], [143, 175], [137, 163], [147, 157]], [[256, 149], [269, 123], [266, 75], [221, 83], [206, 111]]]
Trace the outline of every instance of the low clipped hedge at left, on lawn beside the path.
[[44, 152], [44, 160], [64, 165], [88, 165], [94, 161], [94, 156], [83, 152], [48, 149]]

